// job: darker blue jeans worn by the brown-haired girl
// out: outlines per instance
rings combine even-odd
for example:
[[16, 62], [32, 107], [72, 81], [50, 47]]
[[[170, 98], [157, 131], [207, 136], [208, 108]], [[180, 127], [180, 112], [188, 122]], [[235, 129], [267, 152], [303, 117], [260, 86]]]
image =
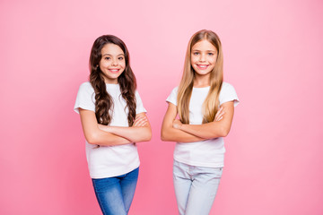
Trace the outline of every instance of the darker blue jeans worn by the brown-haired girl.
[[95, 195], [104, 215], [127, 215], [135, 194], [139, 168], [121, 176], [92, 178]]

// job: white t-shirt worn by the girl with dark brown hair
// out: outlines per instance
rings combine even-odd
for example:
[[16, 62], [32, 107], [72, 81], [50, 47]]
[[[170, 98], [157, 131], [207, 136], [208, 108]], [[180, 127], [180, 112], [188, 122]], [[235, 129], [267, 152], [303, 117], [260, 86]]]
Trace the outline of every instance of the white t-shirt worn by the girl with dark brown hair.
[[[128, 126], [127, 102], [121, 96], [118, 84], [106, 84], [107, 91], [113, 99], [113, 114], [109, 125]], [[95, 112], [95, 93], [90, 82], [83, 82], [78, 90], [74, 111], [79, 113], [79, 107]], [[146, 112], [139, 93], [135, 91], [135, 113]], [[86, 159], [92, 178], [120, 176], [139, 167], [138, 151], [134, 143], [118, 146], [92, 145], [85, 141]]]

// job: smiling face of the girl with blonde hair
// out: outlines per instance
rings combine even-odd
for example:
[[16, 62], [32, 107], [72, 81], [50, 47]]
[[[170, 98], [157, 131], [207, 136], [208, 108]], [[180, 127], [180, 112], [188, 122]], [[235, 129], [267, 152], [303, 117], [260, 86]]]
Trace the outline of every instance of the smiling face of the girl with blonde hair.
[[191, 50], [191, 64], [196, 75], [209, 76], [217, 57], [216, 47], [206, 39], [197, 42]]

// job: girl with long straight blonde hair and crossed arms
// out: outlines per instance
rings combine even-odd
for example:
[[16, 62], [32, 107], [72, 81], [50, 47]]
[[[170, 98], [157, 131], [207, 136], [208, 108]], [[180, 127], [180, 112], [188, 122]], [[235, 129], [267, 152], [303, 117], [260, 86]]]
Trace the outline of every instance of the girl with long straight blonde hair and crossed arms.
[[200, 30], [189, 40], [181, 82], [167, 101], [162, 141], [177, 142], [173, 182], [179, 214], [206, 215], [223, 173], [223, 137], [239, 103], [231, 84], [223, 82], [223, 51], [213, 31]]

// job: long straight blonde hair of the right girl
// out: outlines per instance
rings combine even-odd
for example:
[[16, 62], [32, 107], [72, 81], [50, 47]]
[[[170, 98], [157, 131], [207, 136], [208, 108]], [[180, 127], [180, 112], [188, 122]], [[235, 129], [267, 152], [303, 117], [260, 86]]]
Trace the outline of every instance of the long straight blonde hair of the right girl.
[[223, 84], [223, 51], [219, 37], [212, 30], [197, 31], [188, 42], [188, 50], [185, 56], [184, 72], [179, 83], [178, 90], [178, 112], [180, 121], [189, 124], [189, 100], [192, 95], [195, 71], [191, 64], [192, 47], [199, 41], [206, 39], [217, 51], [214, 69], [210, 73], [210, 90], [203, 103], [203, 124], [213, 122], [219, 108], [219, 94]]

